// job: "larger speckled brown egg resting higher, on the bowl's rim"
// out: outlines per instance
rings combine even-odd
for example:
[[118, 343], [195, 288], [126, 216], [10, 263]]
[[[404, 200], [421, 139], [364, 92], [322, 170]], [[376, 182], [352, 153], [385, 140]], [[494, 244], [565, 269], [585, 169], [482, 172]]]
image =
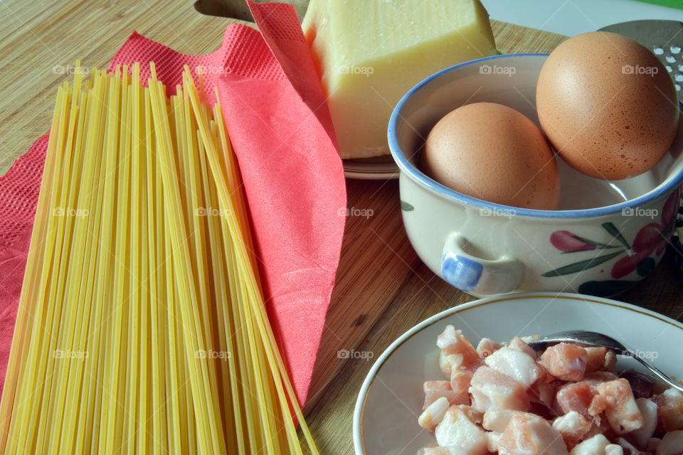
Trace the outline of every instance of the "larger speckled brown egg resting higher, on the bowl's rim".
[[615, 33], [583, 33], [559, 45], [541, 69], [536, 105], [558, 154], [595, 178], [649, 170], [678, 128], [667, 70], [642, 45]]

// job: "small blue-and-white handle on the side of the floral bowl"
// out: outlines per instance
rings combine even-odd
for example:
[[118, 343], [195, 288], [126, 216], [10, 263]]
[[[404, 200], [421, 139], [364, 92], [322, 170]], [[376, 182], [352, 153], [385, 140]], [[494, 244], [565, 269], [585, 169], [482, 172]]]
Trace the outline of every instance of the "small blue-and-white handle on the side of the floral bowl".
[[521, 282], [523, 266], [509, 257], [488, 260], [465, 252], [467, 240], [458, 233], [446, 239], [441, 255], [443, 279], [462, 291], [477, 295], [505, 294]]

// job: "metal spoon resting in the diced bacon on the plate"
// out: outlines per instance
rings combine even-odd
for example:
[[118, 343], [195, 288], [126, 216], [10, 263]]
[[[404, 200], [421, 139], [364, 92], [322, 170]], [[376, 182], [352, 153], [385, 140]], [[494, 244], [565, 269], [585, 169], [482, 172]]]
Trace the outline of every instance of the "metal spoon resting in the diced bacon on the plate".
[[602, 333], [589, 332], [583, 330], [558, 332], [553, 333], [551, 335], [546, 335], [544, 337], [539, 338], [538, 340], [531, 341], [529, 343], [529, 346], [531, 346], [531, 348], [534, 348], [534, 350], [541, 350], [545, 349], [547, 346], [562, 342], [580, 343], [586, 346], [602, 346], [604, 348], [614, 350], [615, 353], [618, 355], [625, 355], [628, 357], [635, 358], [635, 360], [640, 362], [645, 368], [652, 371], [652, 373], [655, 373], [657, 378], [660, 378], [662, 381], [666, 382], [671, 387], [674, 387], [680, 392], [683, 392], [683, 385], [681, 385], [680, 382], [677, 382], [672, 378], [669, 378], [669, 376], [662, 373], [662, 371], [653, 367], [652, 365], [650, 365], [650, 363], [645, 362], [645, 360], [642, 360], [642, 358], [640, 358], [640, 355], [636, 355], [631, 350], [626, 348], [622, 343], [619, 343], [614, 338], [607, 335], [603, 335]]

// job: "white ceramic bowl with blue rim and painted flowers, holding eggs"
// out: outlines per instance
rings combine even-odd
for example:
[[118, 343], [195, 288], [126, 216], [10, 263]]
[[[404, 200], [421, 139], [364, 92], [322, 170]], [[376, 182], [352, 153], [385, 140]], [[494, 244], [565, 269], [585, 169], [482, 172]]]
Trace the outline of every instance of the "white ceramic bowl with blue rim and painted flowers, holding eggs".
[[393, 111], [388, 141], [403, 224], [435, 274], [475, 296], [576, 291], [612, 296], [645, 277], [671, 236], [683, 182], [683, 135], [647, 173], [622, 181], [585, 176], [558, 158], [560, 210], [489, 203], [453, 191], [418, 167], [441, 117], [473, 102], [519, 110], [536, 125], [536, 80], [547, 54], [495, 55], [428, 77]]

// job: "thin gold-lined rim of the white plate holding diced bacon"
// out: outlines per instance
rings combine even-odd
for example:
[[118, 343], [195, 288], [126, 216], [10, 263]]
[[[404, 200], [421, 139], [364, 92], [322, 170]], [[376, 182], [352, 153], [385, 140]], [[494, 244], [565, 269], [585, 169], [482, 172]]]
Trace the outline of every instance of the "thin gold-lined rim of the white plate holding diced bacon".
[[433, 323], [436, 323], [440, 321], [441, 319], [445, 319], [448, 316], [452, 316], [453, 314], [458, 314], [461, 311], [465, 311], [468, 309], [472, 308], [477, 308], [478, 306], [484, 306], [487, 304], [493, 304], [497, 303], [500, 301], [507, 301], [507, 300], [520, 300], [520, 299], [541, 299], [541, 298], [546, 298], [546, 299], [569, 299], [569, 300], [580, 300], [580, 301], [586, 301], [590, 302], [593, 304], [602, 304], [602, 305], [608, 305], [608, 306], [615, 306], [617, 308], [625, 309], [628, 311], [634, 311], [637, 314], [642, 314], [643, 316], [650, 316], [652, 318], [658, 319], [662, 322], [668, 323], [671, 326], [674, 326], [674, 328], [678, 328], [679, 330], [683, 331], [683, 323], [680, 323], [679, 321], [676, 321], [673, 318], [669, 318], [669, 316], [665, 316], [663, 314], [657, 313], [657, 311], [652, 311], [650, 309], [643, 308], [642, 306], [637, 306], [634, 304], [628, 304], [623, 301], [618, 301], [618, 300], [613, 300], [613, 299], [605, 299], [604, 297], [596, 297], [596, 296], [588, 296], [586, 294], [576, 294], [572, 292], [558, 292], [558, 293], [549, 293], [549, 292], [528, 292], [524, 294], [510, 294], [510, 295], [502, 295], [502, 296], [491, 296], [491, 297], [486, 297], [485, 299], [476, 299], [470, 302], [467, 302], [465, 304], [460, 304], [457, 306], [453, 306], [452, 308], [446, 309], [444, 311], [440, 311], [437, 314], [434, 314], [433, 316], [430, 316], [429, 318], [415, 324], [415, 326], [409, 328], [406, 332], [404, 332], [401, 336], [396, 338], [385, 350], [381, 355], [377, 358], [375, 363], [372, 365], [370, 368], [368, 374], [366, 375], [365, 379], [363, 380], [363, 384], [361, 385], [361, 388], [359, 390], [358, 397], [356, 398], [356, 405], [354, 406], [354, 419], [353, 419], [353, 437], [354, 437], [354, 451], [356, 452], [356, 455], [367, 455], [364, 444], [363, 444], [363, 429], [361, 427], [361, 422], [363, 420], [363, 414], [365, 410], [365, 404], [367, 401], [367, 397], [372, 385], [372, 382], [378, 372], [378, 370], [381, 368], [381, 366], [386, 362], [386, 360], [389, 358], [389, 356], [403, 343], [405, 343], [408, 338], [411, 338], [415, 333], [418, 333], [419, 331], [422, 331], [423, 328], [427, 326], [431, 326]]

